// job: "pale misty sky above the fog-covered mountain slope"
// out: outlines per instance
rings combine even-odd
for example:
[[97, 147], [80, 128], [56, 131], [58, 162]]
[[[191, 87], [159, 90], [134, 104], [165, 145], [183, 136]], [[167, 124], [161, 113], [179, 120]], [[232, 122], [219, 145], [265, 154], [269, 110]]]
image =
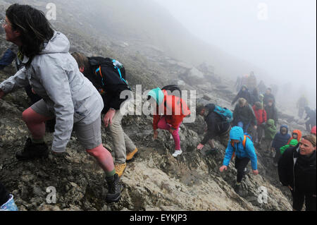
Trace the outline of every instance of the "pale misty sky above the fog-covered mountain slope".
[[200, 39], [265, 69], [275, 82], [305, 83], [316, 104], [316, 0], [153, 1]]

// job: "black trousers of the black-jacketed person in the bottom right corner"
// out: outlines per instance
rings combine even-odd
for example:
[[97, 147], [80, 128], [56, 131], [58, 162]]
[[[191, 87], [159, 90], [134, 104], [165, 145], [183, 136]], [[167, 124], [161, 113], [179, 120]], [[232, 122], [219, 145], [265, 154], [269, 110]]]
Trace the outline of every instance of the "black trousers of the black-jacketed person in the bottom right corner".
[[313, 197], [313, 194], [298, 191], [291, 191], [291, 193], [293, 196], [293, 209], [301, 211], [305, 202], [306, 211], [316, 211], [316, 197]]

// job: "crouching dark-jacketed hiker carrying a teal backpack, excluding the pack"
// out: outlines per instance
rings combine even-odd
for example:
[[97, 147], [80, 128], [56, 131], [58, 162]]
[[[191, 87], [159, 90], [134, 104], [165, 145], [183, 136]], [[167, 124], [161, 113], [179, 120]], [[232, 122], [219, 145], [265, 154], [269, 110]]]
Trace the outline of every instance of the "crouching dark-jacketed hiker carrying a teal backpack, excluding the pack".
[[211, 146], [211, 150], [207, 154], [213, 154], [216, 152], [215, 143], [213, 138], [220, 137], [222, 145], [227, 146], [229, 141], [229, 132], [231, 129], [230, 123], [223, 120], [223, 118], [217, 114], [214, 109], [215, 104], [206, 104], [205, 107], [199, 108], [198, 112], [201, 116], [207, 114], [205, 121], [207, 123], [207, 133], [203, 140], [197, 146], [198, 150], [201, 150], [207, 142]]

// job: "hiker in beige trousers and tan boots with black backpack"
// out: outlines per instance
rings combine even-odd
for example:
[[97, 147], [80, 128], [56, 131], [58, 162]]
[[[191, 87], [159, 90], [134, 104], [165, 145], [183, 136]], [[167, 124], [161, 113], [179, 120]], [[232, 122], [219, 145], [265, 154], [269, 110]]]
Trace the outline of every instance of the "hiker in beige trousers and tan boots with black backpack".
[[[126, 83], [125, 70], [123, 67], [113, 70], [113, 60], [102, 57], [87, 57], [84, 54], [74, 52], [72, 56], [78, 63], [80, 72], [88, 78], [104, 100], [104, 125], [109, 128], [113, 140], [115, 153], [116, 174], [123, 175], [130, 161], [138, 150], [128, 135], [125, 134], [121, 121], [127, 114], [126, 107], [130, 104], [128, 97], [132, 96], [130, 87]], [[112, 66], [111, 66], [112, 65]], [[120, 73], [118, 73], [118, 69]], [[98, 72], [96, 72], [98, 70]], [[99, 76], [104, 76], [104, 82], [98, 80]], [[122, 78], [120, 78], [120, 74]], [[121, 99], [121, 93], [125, 92], [125, 98]]]

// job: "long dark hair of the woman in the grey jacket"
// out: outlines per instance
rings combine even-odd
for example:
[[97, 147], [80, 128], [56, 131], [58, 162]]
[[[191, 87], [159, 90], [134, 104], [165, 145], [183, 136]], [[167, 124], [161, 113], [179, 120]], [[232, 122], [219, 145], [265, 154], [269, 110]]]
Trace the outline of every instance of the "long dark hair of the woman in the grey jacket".
[[54, 30], [42, 11], [28, 5], [13, 4], [6, 10], [11, 28], [18, 30], [21, 35], [20, 51], [30, 59], [44, 49], [54, 35]]

